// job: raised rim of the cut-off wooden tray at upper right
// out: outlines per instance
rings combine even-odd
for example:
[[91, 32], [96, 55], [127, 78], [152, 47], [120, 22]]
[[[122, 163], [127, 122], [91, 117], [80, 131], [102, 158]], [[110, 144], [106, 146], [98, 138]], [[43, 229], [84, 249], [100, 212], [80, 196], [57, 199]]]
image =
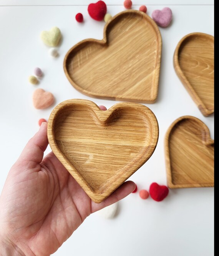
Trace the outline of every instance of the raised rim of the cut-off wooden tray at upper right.
[[214, 40], [214, 36], [206, 34], [206, 33], [202, 33], [202, 32], [194, 32], [194, 33], [189, 33], [189, 34], [185, 35], [178, 42], [178, 44], [176, 46], [176, 49], [174, 51], [173, 66], [174, 66], [176, 74], [178, 75], [178, 77], [181, 80], [182, 84], [184, 85], [184, 87], [186, 88], [187, 92], [191, 96], [192, 100], [196, 103], [196, 105], [197, 105], [198, 109], [201, 111], [202, 115], [209, 116], [209, 115], [214, 113], [214, 109], [207, 109], [206, 105], [204, 105], [204, 103], [202, 102], [200, 97], [196, 94], [196, 92], [193, 89], [192, 85], [187, 80], [186, 76], [183, 74], [183, 71], [181, 70], [181, 67], [179, 65], [179, 58], [178, 58], [179, 49], [180, 49], [181, 45], [183, 44], [183, 42], [187, 38], [193, 37], [193, 36], [202, 36], [202, 37], [204, 36], [204, 37], [209, 38], [210, 40]]

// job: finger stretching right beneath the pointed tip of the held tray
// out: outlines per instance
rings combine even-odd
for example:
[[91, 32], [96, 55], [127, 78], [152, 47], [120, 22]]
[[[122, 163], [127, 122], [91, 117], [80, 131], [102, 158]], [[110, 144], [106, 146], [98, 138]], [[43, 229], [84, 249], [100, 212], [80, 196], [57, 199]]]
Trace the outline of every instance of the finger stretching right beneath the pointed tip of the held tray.
[[118, 189], [116, 189], [109, 197], [107, 197], [100, 204], [96, 204], [95, 202], [91, 202], [91, 213], [99, 211], [110, 204], [114, 204], [124, 197], [128, 196], [135, 189], [135, 183], [133, 181], [124, 182]]

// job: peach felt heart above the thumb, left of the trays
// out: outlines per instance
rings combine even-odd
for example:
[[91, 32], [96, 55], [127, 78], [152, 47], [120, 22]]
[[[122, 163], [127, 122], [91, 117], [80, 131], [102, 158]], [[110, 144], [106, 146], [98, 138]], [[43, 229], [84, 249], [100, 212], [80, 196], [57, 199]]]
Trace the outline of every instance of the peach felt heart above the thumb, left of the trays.
[[33, 105], [36, 109], [46, 109], [54, 102], [54, 96], [51, 92], [45, 92], [43, 89], [37, 89], [33, 92]]

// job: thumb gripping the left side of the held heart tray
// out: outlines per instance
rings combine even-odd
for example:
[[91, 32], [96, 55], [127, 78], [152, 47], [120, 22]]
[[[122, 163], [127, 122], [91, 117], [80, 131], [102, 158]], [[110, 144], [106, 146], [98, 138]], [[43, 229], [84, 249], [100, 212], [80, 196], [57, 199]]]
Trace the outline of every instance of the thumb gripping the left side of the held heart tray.
[[28, 141], [18, 160], [40, 164], [47, 146], [47, 123], [43, 122], [39, 131]]

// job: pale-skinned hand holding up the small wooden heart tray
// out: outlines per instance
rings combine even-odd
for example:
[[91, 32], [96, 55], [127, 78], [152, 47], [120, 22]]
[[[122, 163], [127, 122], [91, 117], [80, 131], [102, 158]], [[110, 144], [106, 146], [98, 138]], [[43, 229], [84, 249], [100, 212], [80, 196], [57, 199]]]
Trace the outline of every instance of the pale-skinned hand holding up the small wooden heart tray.
[[54, 253], [91, 213], [135, 189], [134, 182], [127, 181], [100, 204], [91, 201], [52, 152], [43, 158], [46, 130], [43, 122], [5, 181], [0, 196], [2, 256]]

